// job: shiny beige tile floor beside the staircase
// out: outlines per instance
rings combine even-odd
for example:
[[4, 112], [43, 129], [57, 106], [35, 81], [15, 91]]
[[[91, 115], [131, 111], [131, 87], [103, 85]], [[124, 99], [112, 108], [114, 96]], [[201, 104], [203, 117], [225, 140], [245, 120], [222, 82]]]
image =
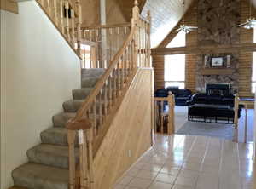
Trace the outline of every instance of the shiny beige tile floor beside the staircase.
[[253, 144], [204, 136], [155, 135], [114, 189], [253, 189]]

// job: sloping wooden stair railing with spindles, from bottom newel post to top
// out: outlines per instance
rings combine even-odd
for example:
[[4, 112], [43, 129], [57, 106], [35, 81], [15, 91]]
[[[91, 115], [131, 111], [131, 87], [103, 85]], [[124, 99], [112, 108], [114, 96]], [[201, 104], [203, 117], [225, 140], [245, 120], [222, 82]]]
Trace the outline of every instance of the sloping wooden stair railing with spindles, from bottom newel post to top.
[[[96, 188], [96, 165], [93, 162], [96, 152], [136, 75], [137, 68], [151, 67], [150, 14], [148, 12], [147, 20], [139, 15], [137, 0], [132, 12], [129, 36], [110, 60], [108, 69], [84, 100], [76, 116], [67, 122], [70, 189]], [[77, 133], [79, 163], [74, 153]]]

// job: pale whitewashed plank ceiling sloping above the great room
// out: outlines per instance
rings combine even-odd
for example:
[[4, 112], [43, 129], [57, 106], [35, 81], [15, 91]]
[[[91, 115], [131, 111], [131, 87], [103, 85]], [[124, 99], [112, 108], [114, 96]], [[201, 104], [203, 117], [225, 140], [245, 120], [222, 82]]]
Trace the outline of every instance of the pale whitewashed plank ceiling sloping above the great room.
[[194, 0], [147, 0], [143, 7], [143, 16], [148, 10], [152, 14], [152, 47], [156, 47], [182, 19], [184, 12]]

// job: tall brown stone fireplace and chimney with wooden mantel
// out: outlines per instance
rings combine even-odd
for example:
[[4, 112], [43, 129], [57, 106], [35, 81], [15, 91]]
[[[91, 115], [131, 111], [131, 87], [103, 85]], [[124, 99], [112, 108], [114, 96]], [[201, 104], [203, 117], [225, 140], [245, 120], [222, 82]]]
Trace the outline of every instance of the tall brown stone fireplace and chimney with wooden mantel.
[[[240, 43], [240, 0], [198, 1], [198, 44]], [[212, 57], [223, 57], [223, 66], [211, 66]], [[206, 84], [230, 83], [234, 92], [238, 90], [239, 54], [202, 54], [196, 64], [196, 90], [205, 92]]]

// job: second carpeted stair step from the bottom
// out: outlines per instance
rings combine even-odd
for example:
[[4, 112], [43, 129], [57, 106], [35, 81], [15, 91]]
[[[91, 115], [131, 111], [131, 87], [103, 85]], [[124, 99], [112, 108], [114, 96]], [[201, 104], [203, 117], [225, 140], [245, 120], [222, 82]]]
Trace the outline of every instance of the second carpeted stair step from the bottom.
[[[78, 150], [75, 149], [77, 157]], [[40, 144], [29, 149], [26, 154], [30, 163], [68, 169], [68, 146]]]

